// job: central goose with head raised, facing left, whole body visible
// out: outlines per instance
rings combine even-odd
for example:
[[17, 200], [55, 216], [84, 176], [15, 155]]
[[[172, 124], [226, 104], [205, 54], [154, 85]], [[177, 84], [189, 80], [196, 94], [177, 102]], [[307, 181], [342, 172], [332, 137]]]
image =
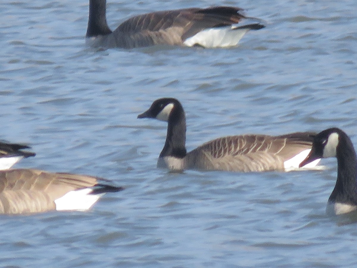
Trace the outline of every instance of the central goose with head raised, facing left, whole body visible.
[[[167, 121], [167, 135], [157, 167], [174, 171], [185, 169], [261, 172], [297, 169], [311, 150], [310, 132], [281, 136], [238, 135], [211, 140], [186, 153], [186, 119], [180, 101], [174, 98], [155, 100], [137, 118]], [[304, 166], [315, 167], [318, 159]]]

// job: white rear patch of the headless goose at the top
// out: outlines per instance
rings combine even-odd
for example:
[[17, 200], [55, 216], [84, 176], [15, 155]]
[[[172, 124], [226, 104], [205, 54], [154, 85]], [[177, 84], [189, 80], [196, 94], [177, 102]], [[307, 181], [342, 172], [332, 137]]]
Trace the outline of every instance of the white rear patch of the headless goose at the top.
[[237, 26], [210, 28], [198, 32], [187, 38], [183, 44], [186, 46], [201, 45], [205, 48], [225, 48], [236, 46], [239, 40], [249, 31], [248, 28], [236, 29]]

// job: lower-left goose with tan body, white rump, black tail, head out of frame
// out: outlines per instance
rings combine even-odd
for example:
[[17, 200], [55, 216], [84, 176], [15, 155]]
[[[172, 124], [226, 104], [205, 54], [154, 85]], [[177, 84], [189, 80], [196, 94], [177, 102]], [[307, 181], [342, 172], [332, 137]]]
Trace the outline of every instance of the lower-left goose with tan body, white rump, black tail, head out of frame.
[[36, 169], [2, 170], [0, 214], [87, 210], [106, 192], [123, 189], [107, 185], [104, 179], [86, 175]]

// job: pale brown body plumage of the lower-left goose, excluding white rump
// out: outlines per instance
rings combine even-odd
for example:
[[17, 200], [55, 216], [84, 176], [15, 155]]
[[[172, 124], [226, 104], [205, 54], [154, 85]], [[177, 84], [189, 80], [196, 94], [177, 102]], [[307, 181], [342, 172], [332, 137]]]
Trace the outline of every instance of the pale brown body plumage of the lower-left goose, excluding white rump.
[[[37, 169], [0, 171], [0, 214], [29, 214], [55, 210], [56, 199], [73, 190], [93, 187], [98, 183], [98, 179]], [[120, 190], [116, 187], [113, 189]]]

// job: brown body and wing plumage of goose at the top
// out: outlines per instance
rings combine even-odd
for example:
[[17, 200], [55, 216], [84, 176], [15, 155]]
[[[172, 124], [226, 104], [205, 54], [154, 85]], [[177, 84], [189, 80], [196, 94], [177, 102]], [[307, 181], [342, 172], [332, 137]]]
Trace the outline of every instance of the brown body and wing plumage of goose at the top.
[[[186, 38], [207, 28], [238, 23], [240, 8], [215, 7], [159, 11], [126, 20], [113, 32], [116, 46], [182, 45]], [[220, 15], [221, 13], [221, 15]], [[119, 35], [120, 33], [120, 35]]]

